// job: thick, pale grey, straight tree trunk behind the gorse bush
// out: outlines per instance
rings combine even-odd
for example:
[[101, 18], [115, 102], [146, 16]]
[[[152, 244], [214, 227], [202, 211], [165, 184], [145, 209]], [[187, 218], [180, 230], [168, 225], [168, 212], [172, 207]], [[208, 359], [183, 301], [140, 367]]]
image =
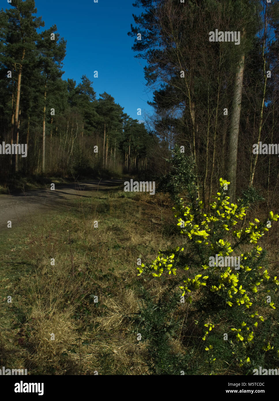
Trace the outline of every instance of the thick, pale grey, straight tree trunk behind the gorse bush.
[[228, 152], [228, 179], [230, 181], [230, 186], [228, 188], [228, 196], [230, 196], [230, 202], [235, 201], [235, 191], [236, 191], [237, 145], [239, 137], [239, 120], [241, 112], [244, 59], [245, 55], [243, 54], [237, 66], [237, 73], [235, 76], [235, 89], [232, 99], [232, 118], [230, 124], [230, 143]]

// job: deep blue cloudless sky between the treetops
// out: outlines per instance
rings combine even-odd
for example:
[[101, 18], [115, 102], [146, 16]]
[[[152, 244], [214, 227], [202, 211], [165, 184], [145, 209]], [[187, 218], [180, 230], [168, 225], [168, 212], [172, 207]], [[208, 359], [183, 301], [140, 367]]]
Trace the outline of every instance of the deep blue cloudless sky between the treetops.
[[[144, 110], [152, 112], [147, 101], [152, 101], [153, 95], [144, 79], [145, 61], [134, 58], [134, 38], [127, 35], [134, 24], [132, 14], [141, 12], [133, 2], [35, 0], [37, 16], [45, 22], [41, 29], [56, 24], [60, 37], [67, 40], [62, 78], [73, 78], [78, 84], [81, 76], [87, 75], [97, 98], [106, 91], [125, 113], [140, 120], [144, 119]], [[95, 70], [98, 78], [93, 77]], [[142, 109], [142, 116], [137, 115], [137, 108]]]

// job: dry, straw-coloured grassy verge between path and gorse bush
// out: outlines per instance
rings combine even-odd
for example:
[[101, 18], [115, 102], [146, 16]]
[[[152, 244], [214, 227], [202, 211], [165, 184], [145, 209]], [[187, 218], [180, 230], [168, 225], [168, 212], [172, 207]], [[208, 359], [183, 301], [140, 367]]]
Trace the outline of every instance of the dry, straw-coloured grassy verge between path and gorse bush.
[[149, 199], [98, 192], [0, 234], [2, 366], [31, 375], [147, 373], [127, 318], [138, 310], [136, 262], [171, 237], [162, 229], [170, 212]]

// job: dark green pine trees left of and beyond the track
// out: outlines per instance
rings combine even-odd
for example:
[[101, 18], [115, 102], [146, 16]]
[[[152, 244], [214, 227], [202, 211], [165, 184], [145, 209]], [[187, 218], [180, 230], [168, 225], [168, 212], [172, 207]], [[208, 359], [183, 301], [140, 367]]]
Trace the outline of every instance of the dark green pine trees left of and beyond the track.
[[13, 157], [12, 168], [11, 157], [1, 158], [2, 181], [15, 173], [143, 169], [152, 140], [144, 124], [123, 113], [108, 93], [97, 99], [86, 75], [78, 84], [63, 80], [66, 40], [57, 26], [37, 32], [44, 22], [34, 0], [12, 0], [11, 6], [0, 10], [0, 142], [27, 143], [28, 158]]

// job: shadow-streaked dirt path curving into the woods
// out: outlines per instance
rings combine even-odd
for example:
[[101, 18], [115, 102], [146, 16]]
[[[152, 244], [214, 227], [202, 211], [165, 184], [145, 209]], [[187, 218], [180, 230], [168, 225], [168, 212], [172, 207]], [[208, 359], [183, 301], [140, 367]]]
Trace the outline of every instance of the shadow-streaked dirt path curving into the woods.
[[71, 201], [90, 197], [97, 191], [107, 191], [124, 180], [92, 180], [73, 184], [55, 185], [55, 190], [35, 189], [15, 195], [0, 195], [0, 230], [7, 229], [7, 222], [21, 224], [32, 215], [51, 209], [67, 209]]

